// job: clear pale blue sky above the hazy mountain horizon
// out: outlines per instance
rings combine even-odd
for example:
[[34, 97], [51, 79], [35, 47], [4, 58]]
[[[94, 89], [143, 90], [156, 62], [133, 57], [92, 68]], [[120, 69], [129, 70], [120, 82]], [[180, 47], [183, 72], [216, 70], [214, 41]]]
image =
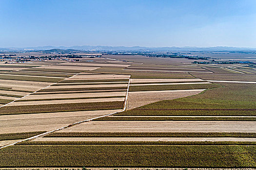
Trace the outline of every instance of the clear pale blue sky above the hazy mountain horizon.
[[0, 0], [0, 47], [256, 48], [256, 0]]

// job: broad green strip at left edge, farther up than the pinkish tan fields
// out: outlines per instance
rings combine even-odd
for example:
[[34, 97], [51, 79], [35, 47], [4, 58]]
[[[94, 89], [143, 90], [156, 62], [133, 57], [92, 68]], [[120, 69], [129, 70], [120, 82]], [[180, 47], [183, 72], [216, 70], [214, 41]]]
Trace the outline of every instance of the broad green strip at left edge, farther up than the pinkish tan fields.
[[36, 82], [59, 82], [62, 78], [47, 78], [47, 77], [33, 77], [33, 76], [15, 76], [15, 75], [2, 75], [0, 79], [5, 80], [23, 80], [23, 81], [36, 81]]

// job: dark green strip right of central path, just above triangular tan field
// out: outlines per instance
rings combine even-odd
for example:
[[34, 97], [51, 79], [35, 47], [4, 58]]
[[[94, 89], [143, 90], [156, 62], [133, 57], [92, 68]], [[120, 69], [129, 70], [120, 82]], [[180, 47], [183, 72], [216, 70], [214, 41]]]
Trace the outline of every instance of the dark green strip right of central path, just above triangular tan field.
[[129, 91], [155, 91], [155, 90], [186, 90], [219, 87], [217, 84], [195, 84], [195, 85], [141, 85], [130, 86]]

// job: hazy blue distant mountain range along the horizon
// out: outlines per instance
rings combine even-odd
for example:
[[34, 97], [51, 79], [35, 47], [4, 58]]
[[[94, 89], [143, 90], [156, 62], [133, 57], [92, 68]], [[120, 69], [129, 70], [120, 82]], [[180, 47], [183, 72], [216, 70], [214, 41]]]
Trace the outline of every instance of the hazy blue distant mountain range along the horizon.
[[242, 48], [242, 47], [125, 47], [125, 46], [72, 46], [72, 47], [25, 47], [25, 48], [0, 48], [2, 51], [20, 51], [20, 50], [80, 50], [80, 51], [256, 51], [256, 48]]

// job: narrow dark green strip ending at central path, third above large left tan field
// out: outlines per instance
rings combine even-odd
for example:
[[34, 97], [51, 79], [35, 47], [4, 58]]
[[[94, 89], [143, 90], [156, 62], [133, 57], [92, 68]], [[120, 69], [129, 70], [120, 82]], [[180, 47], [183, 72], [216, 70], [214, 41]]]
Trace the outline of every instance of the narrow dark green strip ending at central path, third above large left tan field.
[[50, 88], [50, 89], [45, 88], [39, 91], [79, 91], [79, 90], [112, 90], [112, 89], [127, 89], [127, 87], [80, 87], [80, 88]]

